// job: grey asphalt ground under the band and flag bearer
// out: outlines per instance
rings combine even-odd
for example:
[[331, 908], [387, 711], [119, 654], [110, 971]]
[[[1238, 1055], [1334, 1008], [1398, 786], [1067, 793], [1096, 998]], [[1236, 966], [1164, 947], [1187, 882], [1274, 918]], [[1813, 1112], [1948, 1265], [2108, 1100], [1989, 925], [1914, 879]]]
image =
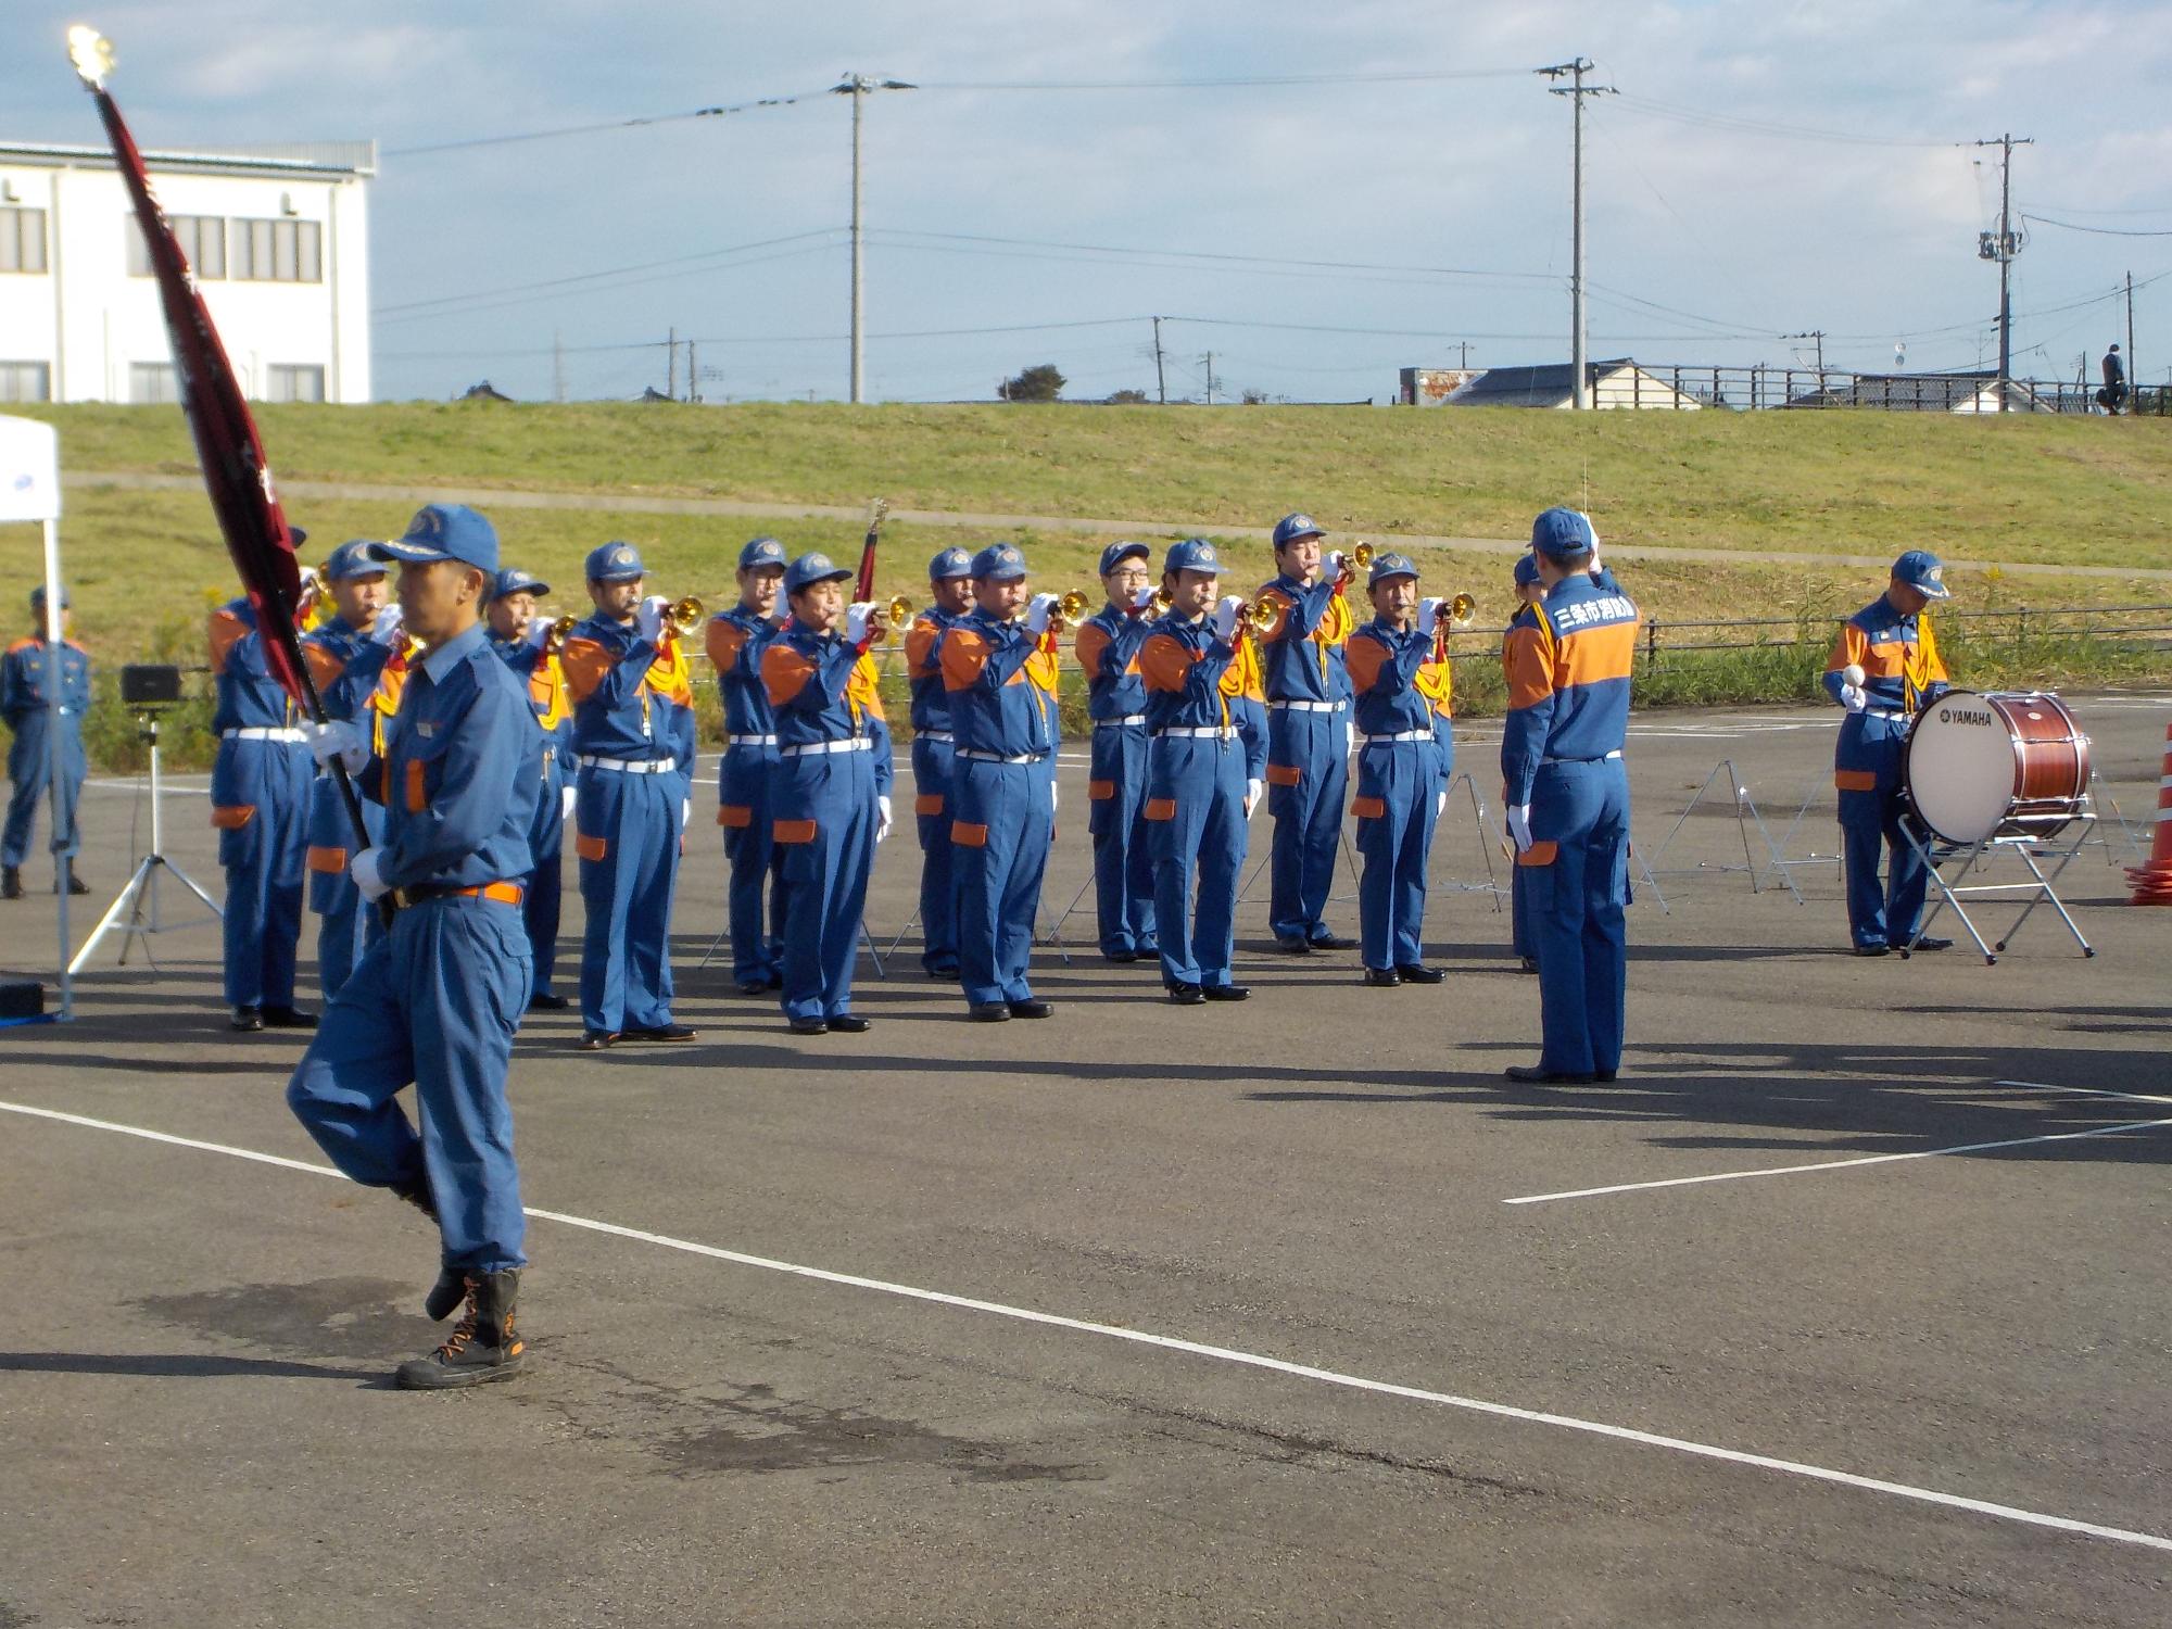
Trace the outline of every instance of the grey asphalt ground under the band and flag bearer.
[[[2172, 697], [2076, 710], [2142, 830]], [[1842, 954], [1829, 860], [1720, 869], [1770, 858], [1729, 782], [1772, 841], [1818, 788], [1785, 854], [1831, 856], [1835, 717], [1638, 721], [1612, 1086], [1501, 1077], [1538, 997], [1462, 784], [1438, 988], [1271, 954], [1262, 877], [1249, 1003], [1166, 1006], [1088, 908], [1047, 1023], [960, 1023], [908, 938], [825, 1038], [697, 967], [697, 825], [702, 1040], [521, 1032], [532, 1360], [452, 1397], [387, 1388], [434, 1240], [324, 1171], [167, 886], [156, 969], [0, 1030], [0, 1625], [2165, 1622], [2172, 917], [2111, 830], [2061, 884], [2096, 958], [2044, 912], [1996, 967]], [[217, 893], [202, 797], [167, 851]], [[1066, 762], [1049, 917], [1082, 817]], [[132, 782], [87, 830], [102, 906]]]

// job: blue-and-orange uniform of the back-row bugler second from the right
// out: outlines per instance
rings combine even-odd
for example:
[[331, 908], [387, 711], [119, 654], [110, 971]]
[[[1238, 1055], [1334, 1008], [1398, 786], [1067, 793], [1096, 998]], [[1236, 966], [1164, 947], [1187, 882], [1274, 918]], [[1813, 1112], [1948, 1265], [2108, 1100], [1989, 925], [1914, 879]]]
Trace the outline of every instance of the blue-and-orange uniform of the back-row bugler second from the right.
[[1153, 956], [1160, 947], [1147, 841], [1147, 680], [1138, 671], [1149, 628], [1140, 613], [1112, 604], [1082, 621], [1073, 641], [1093, 719], [1086, 830], [1103, 956]]

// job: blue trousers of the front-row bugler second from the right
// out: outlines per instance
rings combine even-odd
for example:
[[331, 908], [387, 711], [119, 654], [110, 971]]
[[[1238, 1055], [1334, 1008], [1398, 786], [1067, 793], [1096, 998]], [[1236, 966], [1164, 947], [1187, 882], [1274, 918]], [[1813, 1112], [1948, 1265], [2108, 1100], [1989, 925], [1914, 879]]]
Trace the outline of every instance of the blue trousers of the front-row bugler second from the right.
[[1236, 884], [1249, 836], [1245, 745], [1158, 736], [1147, 758], [1147, 830], [1162, 982], [1227, 984], [1236, 960]]

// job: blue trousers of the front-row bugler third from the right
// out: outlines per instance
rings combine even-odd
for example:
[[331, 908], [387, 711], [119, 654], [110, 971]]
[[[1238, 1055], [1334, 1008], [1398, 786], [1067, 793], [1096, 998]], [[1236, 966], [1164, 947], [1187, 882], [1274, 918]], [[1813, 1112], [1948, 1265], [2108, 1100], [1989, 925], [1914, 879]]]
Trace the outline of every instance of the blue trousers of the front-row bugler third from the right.
[[1040, 877], [1056, 808], [1049, 771], [958, 758], [951, 778], [951, 864], [958, 877], [958, 980], [973, 1006], [1030, 1001]]

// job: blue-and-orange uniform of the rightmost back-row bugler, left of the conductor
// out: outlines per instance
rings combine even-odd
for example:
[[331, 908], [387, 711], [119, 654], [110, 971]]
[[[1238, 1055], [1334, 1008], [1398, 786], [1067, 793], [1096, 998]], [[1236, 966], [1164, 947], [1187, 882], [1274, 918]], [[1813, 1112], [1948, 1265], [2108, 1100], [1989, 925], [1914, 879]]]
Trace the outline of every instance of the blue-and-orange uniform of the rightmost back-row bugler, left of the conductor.
[[1349, 673], [1342, 641], [1351, 608], [1334, 578], [1310, 589], [1290, 576], [1260, 597], [1281, 606], [1260, 641], [1266, 667], [1266, 810], [1275, 817], [1268, 925], [1275, 938], [1327, 938], [1327, 895], [1342, 843], [1349, 786]]

